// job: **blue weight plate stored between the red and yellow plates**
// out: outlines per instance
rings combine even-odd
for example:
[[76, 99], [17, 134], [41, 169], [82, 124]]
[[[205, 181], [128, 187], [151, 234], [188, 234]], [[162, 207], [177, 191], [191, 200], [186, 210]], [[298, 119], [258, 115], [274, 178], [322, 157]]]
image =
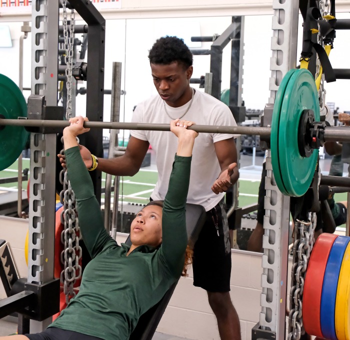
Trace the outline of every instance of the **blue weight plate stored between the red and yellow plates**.
[[336, 289], [342, 258], [349, 240], [350, 238], [346, 236], [335, 238], [325, 267], [321, 294], [320, 323], [323, 337], [329, 340], [337, 340], [335, 332]]

